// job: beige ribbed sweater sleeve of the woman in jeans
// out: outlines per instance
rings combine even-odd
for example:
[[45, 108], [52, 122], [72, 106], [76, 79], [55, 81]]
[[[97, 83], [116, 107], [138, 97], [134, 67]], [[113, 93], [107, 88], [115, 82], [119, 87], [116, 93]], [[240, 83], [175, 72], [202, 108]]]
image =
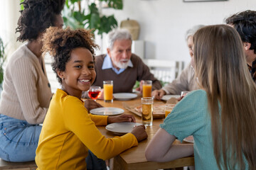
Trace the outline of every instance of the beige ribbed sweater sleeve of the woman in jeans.
[[26, 59], [16, 60], [15, 62], [16, 67], [12, 68], [11, 77], [23, 116], [28, 123], [43, 123], [48, 108], [42, 108], [38, 101], [38, 91], [40, 89], [37, 89], [36, 85], [38, 80], [36, 68], [31, 61]]

